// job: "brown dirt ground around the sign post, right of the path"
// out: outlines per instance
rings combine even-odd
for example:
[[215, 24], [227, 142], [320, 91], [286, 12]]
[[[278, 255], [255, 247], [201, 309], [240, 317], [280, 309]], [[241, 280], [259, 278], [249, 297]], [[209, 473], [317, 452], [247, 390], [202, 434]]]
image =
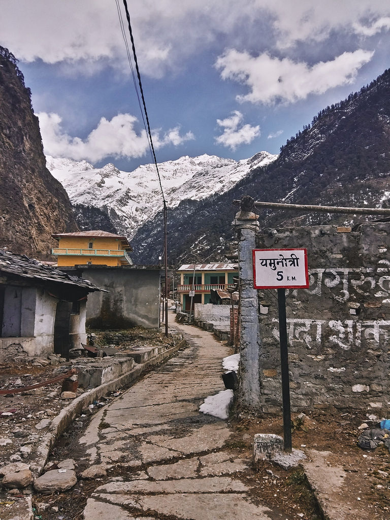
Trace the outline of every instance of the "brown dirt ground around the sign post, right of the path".
[[[390, 453], [384, 445], [375, 450], [362, 450], [357, 446], [361, 433], [359, 426], [366, 422], [376, 427], [377, 421], [370, 421], [361, 411], [349, 413], [326, 414], [323, 411], [307, 412], [304, 422], [293, 414], [295, 426], [292, 433], [292, 444], [295, 449], [315, 449], [330, 451], [328, 457], [332, 465], [342, 466], [345, 472], [345, 487], [348, 497], [359, 501], [361, 516], [356, 520], [390, 518]], [[380, 419], [378, 419], [380, 420]], [[283, 436], [282, 417], [259, 419], [248, 413], [233, 415], [230, 421], [235, 434], [232, 443], [242, 446], [243, 450], [251, 450], [253, 436], [256, 433], [273, 433]], [[262, 493], [267, 496], [269, 504], [285, 507], [286, 496], [291, 503], [306, 502], [307, 512], [316, 517], [316, 509], [312, 507], [309, 488], [305, 486], [303, 474], [298, 470], [285, 472], [272, 467], [268, 462], [261, 463], [258, 474], [264, 480]], [[271, 470], [280, 478], [267, 478], [264, 471]], [[301, 487], [298, 485], [301, 484]], [[290, 501], [288, 500], [288, 502]], [[292, 514], [291, 508], [286, 511]], [[318, 514], [318, 513], [317, 513]], [[304, 516], [303, 518], [306, 518]], [[341, 519], [340, 519], [341, 520]]]

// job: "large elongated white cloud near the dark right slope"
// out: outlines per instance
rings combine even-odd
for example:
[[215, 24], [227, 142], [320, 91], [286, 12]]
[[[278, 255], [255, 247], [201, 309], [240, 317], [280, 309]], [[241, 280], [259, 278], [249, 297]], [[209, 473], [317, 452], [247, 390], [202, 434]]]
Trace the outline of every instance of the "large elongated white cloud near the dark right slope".
[[224, 80], [233, 80], [249, 87], [239, 101], [252, 103], [294, 102], [309, 94], [323, 94], [328, 89], [352, 83], [357, 71], [371, 60], [373, 52], [356, 50], [343, 53], [331, 61], [320, 61], [313, 67], [288, 58], [273, 58], [268, 53], [251, 56], [236, 49], [227, 50], [215, 66]]

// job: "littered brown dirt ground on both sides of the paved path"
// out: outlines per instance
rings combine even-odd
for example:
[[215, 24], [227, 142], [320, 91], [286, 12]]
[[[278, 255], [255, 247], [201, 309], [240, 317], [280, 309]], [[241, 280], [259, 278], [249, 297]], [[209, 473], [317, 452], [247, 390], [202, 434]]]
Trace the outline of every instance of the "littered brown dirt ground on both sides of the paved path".
[[[134, 346], [153, 346], [167, 340], [161, 331], [145, 330], [107, 331], [97, 333], [98, 345], [121, 345], [124, 349]], [[59, 365], [34, 366], [31, 362], [8, 362], [0, 365], [0, 388], [28, 386], [41, 381], [47, 381], [70, 369], [71, 362], [61, 362]], [[18, 382], [20, 379], [21, 384]], [[36, 435], [41, 432], [35, 425], [44, 418], [53, 418], [59, 410], [69, 404], [69, 401], [60, 399], [61, 383], [27, 391], [22, 394], [0, 395], [0, 439], [12, 438], [12, 444], [1, 446], [0, 465], [9, 462], [12, 454], [19, 451], [24, 445], [25, 436]], [[82, 392], [80, 390], [80, 392]], [[118, 396], [120, 392], [106, 396], [102, 402]], [[1, 413], [7, 412], [6, 415]], [[11, 415], [10, 415], [11, 413]], [[292, 434], [293, 447], [296, 449], [315, 449], [330, 451], [334, 455], [334, 462], [342, 466], [345, 472], [345, 482], [350, 496], [360, 499], [361, 510], [365, 514], [361, 518], [376, 518], [388, 520], [390, 518], [390, 453], [384, 446], [376, 450], [363, 451], [357, 446], [360, 434], [359, 426], [366, 422], [370, 427], [376, 426], [376, 421], [369, 421], [362, 411], [350, 411], [340, 414], [326, 414], [323, 411], [307, 412], [307, 419], [303, 422], [293, 414], [294, 431]], [[51, 454], [51, 461], [67, 458], [71, 450], [72, 439], [89, 421], [88, 415], [77, 418], [69, 430], [61, 437], [58, 445]], [[381, 418], [378, 418], [378, 421]], [[281, 417], [258, 418], [233, 410], [229, 425], [233, 435], [227, 447], [241, 457], [250, 458], [252, 453], [253, 436], [256, 433], [274, 433], [283, 435]], [[12, 432], [25, 432], [15, 436]], [[32, 462], [33, 459], [31, 459]], [[27, 456], [22, 462], [29, 462]], [[116, 473], [120, 474], [120, 470]], [[115, 472], [107, 478], [118, 476]], [[316, 502], [302, 469], [285, 471], [269, 462], [259, 463], [252, 471], [239, 476], [256, 483], [256, 493], [253, 500], [260, 499], [262, 503], [280, 512], [282, 520], [303, 518], [304, 520], [318, 520], [322, 518], [317, 510]], [[35, 517], [43, 520], [75, 520], [82, 518], [82, 511], [90, 492], [95, 489], [95, 479], [81, 480], [66, 493], [35, 496]], [[17, 497], [14, 497], [16, 499]], [[42, 506], [42, 503], [48, 504]], [[165, 518], [165, 520], [168, 520]], [[341, 519], [340, 519], [341, 520]], [[360, 520], [356, 517], [356, 520]]]

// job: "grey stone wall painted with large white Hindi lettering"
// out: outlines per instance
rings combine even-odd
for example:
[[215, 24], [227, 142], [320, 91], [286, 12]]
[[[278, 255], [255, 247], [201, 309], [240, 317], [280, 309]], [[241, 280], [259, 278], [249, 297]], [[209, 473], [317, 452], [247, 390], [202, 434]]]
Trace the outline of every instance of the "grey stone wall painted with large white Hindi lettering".
[[[308, 289], [288, 290], [292, 411], [390, 411], [390, 223], [263, 230], [256, 247], [307, 248]], [[260, 406], [280, 413], [276, 290], [258, 291]], [[242, 331], [241, 331], [242, 332]]]

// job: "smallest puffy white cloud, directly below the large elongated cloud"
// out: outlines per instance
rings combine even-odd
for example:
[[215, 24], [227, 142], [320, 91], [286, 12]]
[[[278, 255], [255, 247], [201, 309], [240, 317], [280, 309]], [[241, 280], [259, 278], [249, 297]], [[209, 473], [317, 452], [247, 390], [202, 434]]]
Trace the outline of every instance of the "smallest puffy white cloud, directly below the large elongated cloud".
[[238, 110], [226, 119], [217, 119], [218, 125], [224, 129], [222, 135], [215, 138], [218, 145], [226, 146], [234, 151], [240, 145], [249, 145], [260, 136], [260, 127], [249, 124], [241, 125], [243, 115]]

